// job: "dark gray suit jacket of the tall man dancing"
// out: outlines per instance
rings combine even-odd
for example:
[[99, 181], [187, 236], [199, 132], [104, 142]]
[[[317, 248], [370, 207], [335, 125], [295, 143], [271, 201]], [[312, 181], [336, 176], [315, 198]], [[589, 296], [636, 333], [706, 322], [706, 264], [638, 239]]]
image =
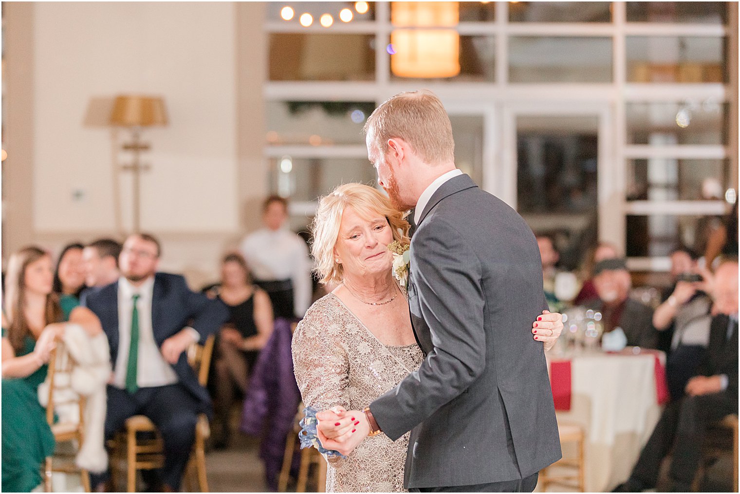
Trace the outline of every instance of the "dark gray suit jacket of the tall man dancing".
[[406, 487], [525, 478], [560, 459], [542, 343], [542, 263], [522, 217], [468, 175], [437, 189], [411, 240], [408, 303], [426, 357], [371, 403]]

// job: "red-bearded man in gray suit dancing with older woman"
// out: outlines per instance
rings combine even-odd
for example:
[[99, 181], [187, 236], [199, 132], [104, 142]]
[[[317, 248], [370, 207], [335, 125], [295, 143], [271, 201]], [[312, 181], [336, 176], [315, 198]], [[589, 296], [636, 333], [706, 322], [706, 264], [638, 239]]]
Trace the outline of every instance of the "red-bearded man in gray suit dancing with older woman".
[[322, 442], [348, 450], [412, 430], [412, 492], [531, 492], [561, 457], [543, 346], [531, 334], [547, 308], [534, 234], [455, 167], [433, 93], [394, 96], [366, 132], [380, 185], [397, 209], [415, 207], [408, 304], [425, 359], [363, 410], [354, 433], [329, 427]]

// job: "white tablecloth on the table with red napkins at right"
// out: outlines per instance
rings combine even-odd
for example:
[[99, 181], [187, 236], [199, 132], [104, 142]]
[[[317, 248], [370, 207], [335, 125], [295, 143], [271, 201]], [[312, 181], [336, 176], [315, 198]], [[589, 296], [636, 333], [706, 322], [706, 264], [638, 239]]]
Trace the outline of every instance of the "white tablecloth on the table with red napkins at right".
[[[659, 356], [665, 362], [665, 355]], [[585, 430], [585, 490], [609, 492], [628, 478], [660, 417], [655, 356], [573, 356], [571, 390], [571, 410], [557, 411], [558, 422]], [[565, 456], [574, 452], [564, 446]]]

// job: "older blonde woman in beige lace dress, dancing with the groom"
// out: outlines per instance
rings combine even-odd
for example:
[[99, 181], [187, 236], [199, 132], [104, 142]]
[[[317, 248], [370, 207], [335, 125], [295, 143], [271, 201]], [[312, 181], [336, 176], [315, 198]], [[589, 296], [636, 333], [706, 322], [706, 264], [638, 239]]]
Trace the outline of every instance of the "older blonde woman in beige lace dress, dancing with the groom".
[[[338, 285], [295, 331], [295, 377], [306, 406], [362, 410], [424, 358], [388, 251], [394, 241], [408, 243], [408, 223], [382, 193], [349, 183], [320, 200], [313, 233], [316, 271], [323, 283]], [[560, 314], [543, 314], [536, 327], [536, 339], [551, 345], [562, 330]], [[349, 419], [359, 417], [337, 424]], [[407, 447], [408, 433], [395, 442], [381, 434], [346, 458], [329, 457], [326, 492], [404, 492]]]

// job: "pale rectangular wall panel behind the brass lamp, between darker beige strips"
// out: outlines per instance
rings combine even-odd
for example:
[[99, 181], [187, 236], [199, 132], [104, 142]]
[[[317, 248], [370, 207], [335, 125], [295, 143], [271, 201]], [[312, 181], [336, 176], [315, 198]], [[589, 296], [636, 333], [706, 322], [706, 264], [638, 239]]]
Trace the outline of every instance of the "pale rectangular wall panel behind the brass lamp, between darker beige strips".
[[169, 126], [145, 132], [152, 169], [141, 183], [142, 229], [237, 229], [234, 4], [44, 2], [34, 10], [36, 230], [114, 224], [111, 131], [85, 116], [91, 102], [118, 93], [162, 95], [169, 114]]

